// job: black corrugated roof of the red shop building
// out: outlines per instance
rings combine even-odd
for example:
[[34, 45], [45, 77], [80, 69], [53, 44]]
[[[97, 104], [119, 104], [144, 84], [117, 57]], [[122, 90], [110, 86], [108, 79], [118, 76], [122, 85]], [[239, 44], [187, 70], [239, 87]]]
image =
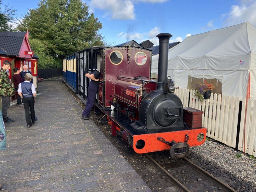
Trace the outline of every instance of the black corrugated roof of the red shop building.
[[5, 50], [6, 55], [18, 56], [22, 46], [25, 32], [0, 32], [0, 47]]

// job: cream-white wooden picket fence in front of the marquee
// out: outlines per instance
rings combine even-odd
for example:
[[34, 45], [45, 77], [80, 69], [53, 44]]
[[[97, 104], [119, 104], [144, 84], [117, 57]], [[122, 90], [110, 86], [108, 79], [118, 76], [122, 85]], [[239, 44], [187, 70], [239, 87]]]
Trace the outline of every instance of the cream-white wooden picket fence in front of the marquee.
[[201, 102], [193, 95], [193, 90], [176, 89], [175, 93], [184, 107], [204, 112], [202, 124], [207, 128], [208, 137], [233, 148], [236, 147], [239, 103], [242, 101], [238, 149], [256, 157], [256, 100], [249, 99], [246, 105], [246, 98], [211, 93], [210, 99]]

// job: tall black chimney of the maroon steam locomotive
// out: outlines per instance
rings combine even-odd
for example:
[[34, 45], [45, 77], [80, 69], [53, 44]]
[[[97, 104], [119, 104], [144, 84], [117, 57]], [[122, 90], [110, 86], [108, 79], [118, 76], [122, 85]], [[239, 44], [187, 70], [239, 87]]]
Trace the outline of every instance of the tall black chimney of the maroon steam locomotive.
[[[158, 82], [167, 81], [167, 68], [168, 68], [168, 50], [169, 40], [172, 37], [170, 33], [160, 33], [156, 35], [159, 39], [159, 56], [158, 56]], [[164, 90], [164, 84], [157, 85], [157, 91]]]

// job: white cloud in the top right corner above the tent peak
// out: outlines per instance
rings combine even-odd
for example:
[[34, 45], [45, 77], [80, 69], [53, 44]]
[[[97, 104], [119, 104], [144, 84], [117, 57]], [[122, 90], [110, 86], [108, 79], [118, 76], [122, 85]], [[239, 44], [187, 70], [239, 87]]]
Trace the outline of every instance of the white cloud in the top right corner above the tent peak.
[[[248, 4], [252, 1], [243, 0], [241, 2]], [[232, 5], [230, 12], [226, 14], [224, 19], [226, 26], [240, 24], [245, 21], [249, 21], [252, 25], [256, 26], [256, 1], [253, 1], [253, 3], [249, 5]]]

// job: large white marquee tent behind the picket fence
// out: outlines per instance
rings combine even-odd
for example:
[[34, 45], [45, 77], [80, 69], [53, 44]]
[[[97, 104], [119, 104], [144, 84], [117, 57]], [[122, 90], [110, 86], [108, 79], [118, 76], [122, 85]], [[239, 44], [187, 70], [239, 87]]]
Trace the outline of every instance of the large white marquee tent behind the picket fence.
[[[158, 55], [152, 57], [152, 74]], [[188, 88], [188, 77], [217, 79], [222, 94], [256, 99], [256, 29], [248, 22], [188, 36], [169, 49], [168, 76]], [[249, 84], [248, 84], [249, 83]], [[249, 86], [248, 86], [249, 85]]]

